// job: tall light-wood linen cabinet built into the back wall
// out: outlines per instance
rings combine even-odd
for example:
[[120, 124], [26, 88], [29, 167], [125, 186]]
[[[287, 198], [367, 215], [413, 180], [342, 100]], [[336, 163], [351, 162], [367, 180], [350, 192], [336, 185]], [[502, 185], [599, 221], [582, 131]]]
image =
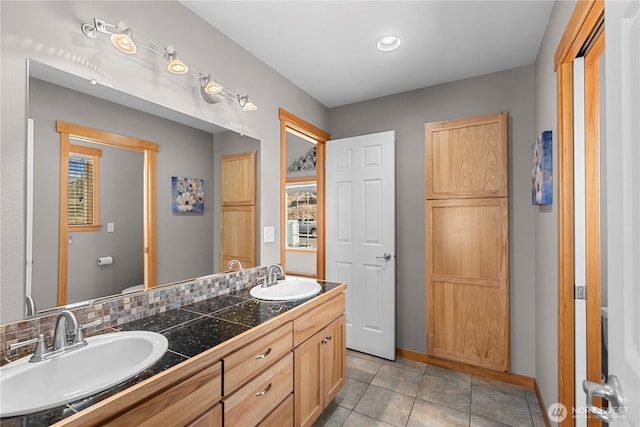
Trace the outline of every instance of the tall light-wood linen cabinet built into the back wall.
[[509, 371], [507, 113], [425, 125], [427, 353]]

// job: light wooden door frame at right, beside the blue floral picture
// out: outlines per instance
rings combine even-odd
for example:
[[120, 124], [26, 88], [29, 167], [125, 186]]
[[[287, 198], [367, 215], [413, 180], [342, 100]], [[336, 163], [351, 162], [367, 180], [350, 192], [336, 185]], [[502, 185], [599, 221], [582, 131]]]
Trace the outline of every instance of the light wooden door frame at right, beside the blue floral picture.
[[[558, 106], [558, 402], [566, 408], [576, 407], [574, 397], [573, 61], [580, 54], [582, 47], [597, 35], [598, 28], [603, 28], [603, 19], [603, 0], [577, 2], [554, 56]], [[592, 86], [591, 89], [588, 88], [589, 85], [587, 85], [588, 91], [593, 89]], [[585, 100], [593, 96], [593, 93], [587, 92]], [[589, 122], [592, 121], [592, 117], [586, 116], [585, 121], [585, 130], [588, 133], [591, 131]], [[592, 243], [590, 242], [589, 246], [593, 249]], [[587, 294], [590, 295], [590, 299], [597, 299], [599, 303], [599, 289], [597, 292], [594, 290], [590, 292], [590, 289], [587, 289]], [[600, 322], [599, 308], [597, 312], [587, 310], [587, 328], [594, 322], [598, 324]], [[599, 330], [599, 327], [596, 328], [596, 332]], [[597, 337], [590, 333], [587, 335], [588, 358], [591, 356], [589, 349], [594, 346], [598, 348], [599, 355], [600, 334], [597, 333]], [[597, 344], [593, 342], [596, 338]], [[566, 417], [559, 424], [570, 426], [573, 424], [573, 419]]]

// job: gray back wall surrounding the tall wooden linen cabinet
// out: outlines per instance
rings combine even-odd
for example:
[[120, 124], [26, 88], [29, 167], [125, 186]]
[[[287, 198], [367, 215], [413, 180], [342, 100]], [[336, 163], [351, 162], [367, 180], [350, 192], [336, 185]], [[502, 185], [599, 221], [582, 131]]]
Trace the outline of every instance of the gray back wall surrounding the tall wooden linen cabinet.
[[424, 124], [506, 111], [511, 369], [534, 376], [534, 68], [527, 66], [330, 110], [333, 139], [396, 131], [397, 346], [426, 351]]

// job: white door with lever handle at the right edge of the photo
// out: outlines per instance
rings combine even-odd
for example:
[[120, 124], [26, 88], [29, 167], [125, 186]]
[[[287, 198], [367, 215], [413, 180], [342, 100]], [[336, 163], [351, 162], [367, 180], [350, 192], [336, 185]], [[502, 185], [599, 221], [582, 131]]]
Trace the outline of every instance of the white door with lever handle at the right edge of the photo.
[[640, 423], [640, 3], [606, 1], [605, 22], [609, 374], [623, 394], [609, 425], [631, 427]]

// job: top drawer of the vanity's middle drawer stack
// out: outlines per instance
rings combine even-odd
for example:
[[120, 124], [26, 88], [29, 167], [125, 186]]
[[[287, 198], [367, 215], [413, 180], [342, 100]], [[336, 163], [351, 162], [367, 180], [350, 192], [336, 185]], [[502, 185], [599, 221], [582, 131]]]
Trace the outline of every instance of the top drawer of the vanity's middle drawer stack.
[[291, 322], [224, 357], [226, 396], [291, 351]]

